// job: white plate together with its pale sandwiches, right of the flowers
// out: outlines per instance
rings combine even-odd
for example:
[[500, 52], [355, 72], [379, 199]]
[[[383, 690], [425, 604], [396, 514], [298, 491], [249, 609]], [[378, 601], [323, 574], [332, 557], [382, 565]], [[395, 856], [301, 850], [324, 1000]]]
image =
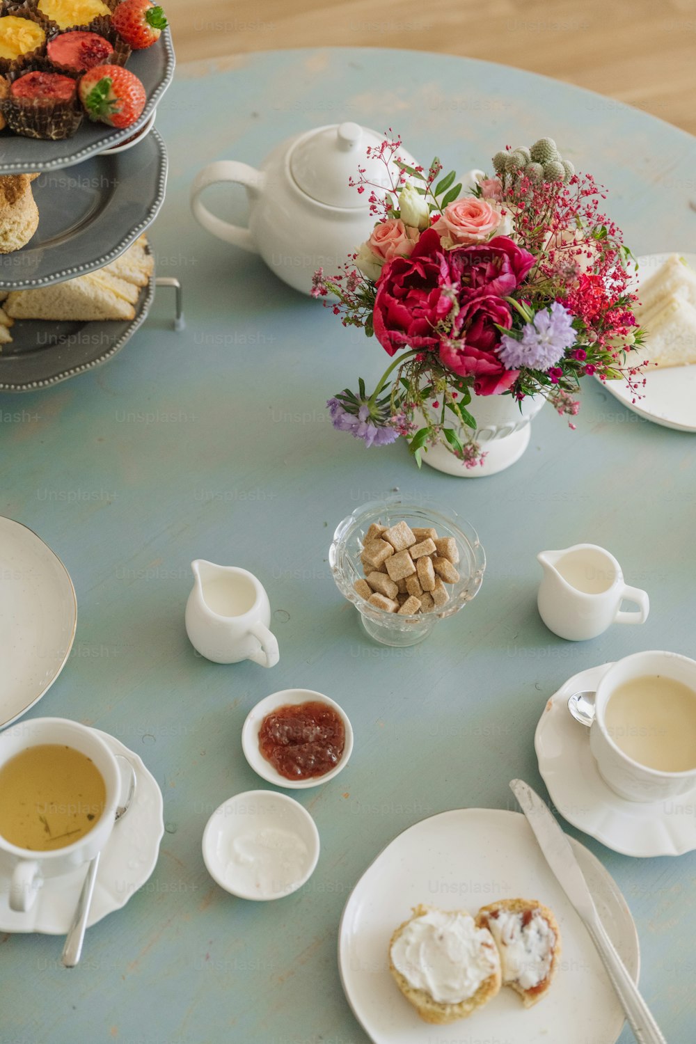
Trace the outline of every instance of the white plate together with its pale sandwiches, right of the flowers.
[[644, 347], [626, 364], [646, 361], [633, 379], [604, 386], [628, 409], [678, 431], [696, 431], [696, 254], [638, 258], [635, 319]]

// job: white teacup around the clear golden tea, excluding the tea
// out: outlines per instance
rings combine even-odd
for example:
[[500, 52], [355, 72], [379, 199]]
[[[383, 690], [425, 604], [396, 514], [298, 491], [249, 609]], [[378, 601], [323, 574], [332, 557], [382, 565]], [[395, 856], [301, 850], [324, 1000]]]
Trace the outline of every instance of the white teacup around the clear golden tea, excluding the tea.
[[[22, 848], [0, 833], [0, 873], [4, 886], [9, 889], [9, 906], [19, 911], [30, 909], [45, 880], [70, 874], [103, 849], [114, 827], [121, 791], [118, 763], [101, 737], [87, 726], [65, 718], [33, 718], [0, 733], [0, 772], [15, 756], [42, 745], [66, 746], [86, 755], [101, 777], [104, 798], [100, 802], [101, 810], [90, 812], [96, 816], [96, 822], [89, 832], [52, 851]], [[50, 828], [49, 809], [65, 812], [61, 802], [65, 802], [66, 791], [62, 789], [61, 779], [55, 782], [55, 793], [47, 797], [46, 808], [37, 808], [37, 814], [42, 810], [47, 813], [44, 816], [47, 829]]]

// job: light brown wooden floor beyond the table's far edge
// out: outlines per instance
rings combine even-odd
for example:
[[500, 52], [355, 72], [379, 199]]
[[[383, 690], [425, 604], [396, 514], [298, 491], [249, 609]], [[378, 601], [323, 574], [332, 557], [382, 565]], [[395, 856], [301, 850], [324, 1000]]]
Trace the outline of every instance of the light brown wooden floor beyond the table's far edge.
[[565, 79], [696, 134], [694, 0], [162, 2], [179, 62], [285, 47], [441, 51]]

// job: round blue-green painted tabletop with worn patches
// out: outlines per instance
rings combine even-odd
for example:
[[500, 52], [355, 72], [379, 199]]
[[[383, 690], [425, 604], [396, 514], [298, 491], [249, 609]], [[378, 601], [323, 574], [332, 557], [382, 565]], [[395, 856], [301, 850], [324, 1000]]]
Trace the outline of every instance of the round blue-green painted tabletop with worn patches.
[[[589, 382], [578, 430], [544, 410], [510, 471], [479, 481], [418, 473], [406, 447], [366, 450], [328, 422], [328, 396], [381, 372], [375, 342], [194, 223], [188, 191], [203, 164], [259, 163], [280, 139], [343, 119], [394, 126], [414, 155], [437, 150], [459, 169], [551, 134], [610, 187], [637, 253], [694, 248], [694, 140], [565, 84], [357, 49], [179, 70], [159, 109], [171, 173], [151, 239], [159, 274], [184, 283], [187, 331], [171, 332], [161, 291], [107, 365], [0, 402], [0, 511], [63, 557], [79, 604], [69, 662], [30, 715], [74, 717], [137, 751], [164, 792], [166, 833], [147, 886], [89, 930], [76, 971], [59, 966], [59, 938], [0, 938], [4, 1044], [362, 1044], [336, 934], [375, 855], [442, 809], [513, 807], [511, 777], [546, 793], [534, 727], [570, 674], [642, 647], [696, 652], [693, 436], [640, 420]], [[220, 200], [243, 220], [241, 192]], [[476, 600], [407, 650], [370, 643], [327, 565], [339, 519], [393, 488], [454, 507], [488, 555]], [[580, 541], [608, 547], [649, 591], [645, 627], [581, 644], [546, 631], [535, 553]], [[281, 645], [272, 672], [194, 655], [184, 607], [197, 556], [265, 583]], [[356, 748], [337, 780], [299, 792], [322, 843], [312, 881], [255, 904], [213, 883], [200, 837], [221, 801], [265, 785], [240, 730], [258, 699], [289, 686], [338, 699]], [[689, 1044], [696, 856], [630, 859], [567, 829], [622, 888], [643, 991], [670, 1044]], [[624, 1029], [622, 1044], [631, 1040]]]

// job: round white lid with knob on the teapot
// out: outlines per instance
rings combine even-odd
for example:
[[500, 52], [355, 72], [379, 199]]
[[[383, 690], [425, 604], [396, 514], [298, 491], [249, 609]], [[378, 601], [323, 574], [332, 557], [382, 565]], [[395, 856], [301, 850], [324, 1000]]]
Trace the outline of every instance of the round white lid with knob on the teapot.
[[[367, 181], [383, 185], [384, 191], [390, 187], [384, 163], [367, 157], [367, 148], [383, 141], [383, 135], [358, 123], [318, 127], [303, 135], [291, 149], [290, 173], [297, 187], [317, 203], [342, 210], [365, 209], [367, 194], [351, 188], [349, 180], [358, 177], [360, 166]], [[393, 171], [395, 180], [399, 169]]]

